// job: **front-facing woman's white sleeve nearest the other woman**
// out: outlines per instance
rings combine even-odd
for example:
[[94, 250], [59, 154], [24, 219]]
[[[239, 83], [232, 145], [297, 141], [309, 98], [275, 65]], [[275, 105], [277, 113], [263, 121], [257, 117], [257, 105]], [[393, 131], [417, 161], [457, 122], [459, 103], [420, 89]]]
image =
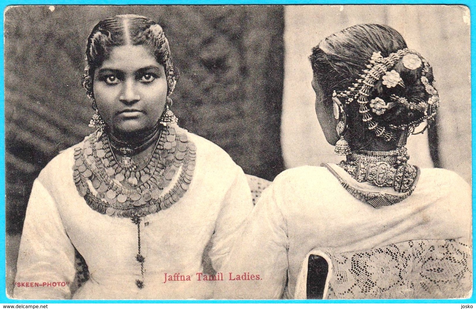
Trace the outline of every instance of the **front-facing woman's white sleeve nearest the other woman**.
[[235, 179], [222, 201], [215, 231], [210, 240], [211, 248], [208, 255], [213, 269], [221, 267], [252, 208], [253, 200], [245, 173], [236, 166]]

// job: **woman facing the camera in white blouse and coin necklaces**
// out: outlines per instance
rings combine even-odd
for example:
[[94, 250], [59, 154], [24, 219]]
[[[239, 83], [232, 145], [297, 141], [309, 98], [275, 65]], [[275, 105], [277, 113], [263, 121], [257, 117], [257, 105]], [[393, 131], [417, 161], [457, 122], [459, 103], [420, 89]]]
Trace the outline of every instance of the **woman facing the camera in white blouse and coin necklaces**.
[[[18, 299], [207, 299], [205, 247], [219, 268], [252, 207], [246, 177], [177, 126], [177, 74], [155, 21], [119, 15], [87, 41], [83, 85], [96, 131], [35, 180], [20, 243]], [[90, 278], [71, 295], [75, 248]], [[203, 276], [202, 276], [203, 277]], [[66, 282], [65, 284], [63, 284]]]

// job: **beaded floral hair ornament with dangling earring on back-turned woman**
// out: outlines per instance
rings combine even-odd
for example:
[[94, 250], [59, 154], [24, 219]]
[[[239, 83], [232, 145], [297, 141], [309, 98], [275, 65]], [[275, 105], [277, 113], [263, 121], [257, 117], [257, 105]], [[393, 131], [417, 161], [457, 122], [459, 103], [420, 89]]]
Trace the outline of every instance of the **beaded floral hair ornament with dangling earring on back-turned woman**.
[[[379, 97], [369, 101], [368, 97], [379, 80], [382, 80], [382, 84], [387, 88], [406, 87], [400, 74], [392, 69], [400, 59], [402, 59], [403, 65], [409, 70], [416, 70], [423, 66], [420, 81], [425, 86], [426, 93], [429, 94], [428, 100], [426, 102], [413, 102], [408, 98], [392, 94], [390, 96], [391, 101], [389, 102], [385, 102]], [[397, 131], [402, 132], [402, 135], [405, 135], [405, 137], [408, 133], [418, 134], [425, 131], [434, 120], [436, 110], [439, 106], [438, 92], [436, 91], [433, 82], [430, 83], [426, 77], [430, 71], [431, 66], [425, 58], [411, 49], [400, 49], [397, 52], [390, 54], [388, 57], [383, 57], [380, 52], [374, 52], [366, 69], [362, 71], [363, 74], [360, 75], [360, 78], [357, 78], [356, 82], [349, 86], [347, 90], [341, 92], [334, 91], [332, 95], [334, 116], [337, 120], [340, 120], [336, 128], [340, 140], [336, 143], [335, 152], [339, 155], [347, 155], [350, 153], [350, 148], [348, 147], [347, 141], [344, 139], [344, 132], [347, 126], [344, 104], [351, 104], [354, 101], [359, 104], [359, 113], [362, 115], [362, 122], [367, 124], [367, 129], [374, 131], [376, 136], [382, 137], [387, 141], [396, 140]], [[345, 103], [342, 103], [339, 98], [345, 99]], [[387, 110], [397, 104], [403, 104], [410, 110], [422, 112], [423, 116], [415, 121], [399, 126], [392, 124], [385, 125], [374, 119], [374, 117], [383, 115]], [[425, 129], [414, 133], [415, 128], [425, 121]]]

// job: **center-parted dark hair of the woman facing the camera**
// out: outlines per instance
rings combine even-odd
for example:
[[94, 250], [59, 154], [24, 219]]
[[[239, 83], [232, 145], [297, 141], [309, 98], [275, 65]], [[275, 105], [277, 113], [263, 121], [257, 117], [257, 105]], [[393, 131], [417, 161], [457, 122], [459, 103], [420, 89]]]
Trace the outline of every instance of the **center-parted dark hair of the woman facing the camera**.
[[82, 84], [88, 96], [94, 98], [93, 78], [96, 69], [109, 57], [113, 47], [148, 46], [167, 75], [167, 94], [172, 94], [178, 74], [170, 55], [169, 40], [160, 25], [147, 17], [126, 14], [101, 20], [91, 31], [86, 44], [86, 64]]

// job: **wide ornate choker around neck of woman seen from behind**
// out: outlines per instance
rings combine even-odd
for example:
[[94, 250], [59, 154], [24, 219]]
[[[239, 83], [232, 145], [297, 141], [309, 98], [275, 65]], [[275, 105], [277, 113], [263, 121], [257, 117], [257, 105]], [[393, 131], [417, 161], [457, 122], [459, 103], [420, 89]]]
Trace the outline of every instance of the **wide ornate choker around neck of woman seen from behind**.
[[377, 187], [393, 187], [406, 193], [415, 189], [419, 174], [416, 166], [407, 164], [409, 156], [404, 146], [391, 151], [352, 151], [338, 166], [358, 182], [367, 181]]

